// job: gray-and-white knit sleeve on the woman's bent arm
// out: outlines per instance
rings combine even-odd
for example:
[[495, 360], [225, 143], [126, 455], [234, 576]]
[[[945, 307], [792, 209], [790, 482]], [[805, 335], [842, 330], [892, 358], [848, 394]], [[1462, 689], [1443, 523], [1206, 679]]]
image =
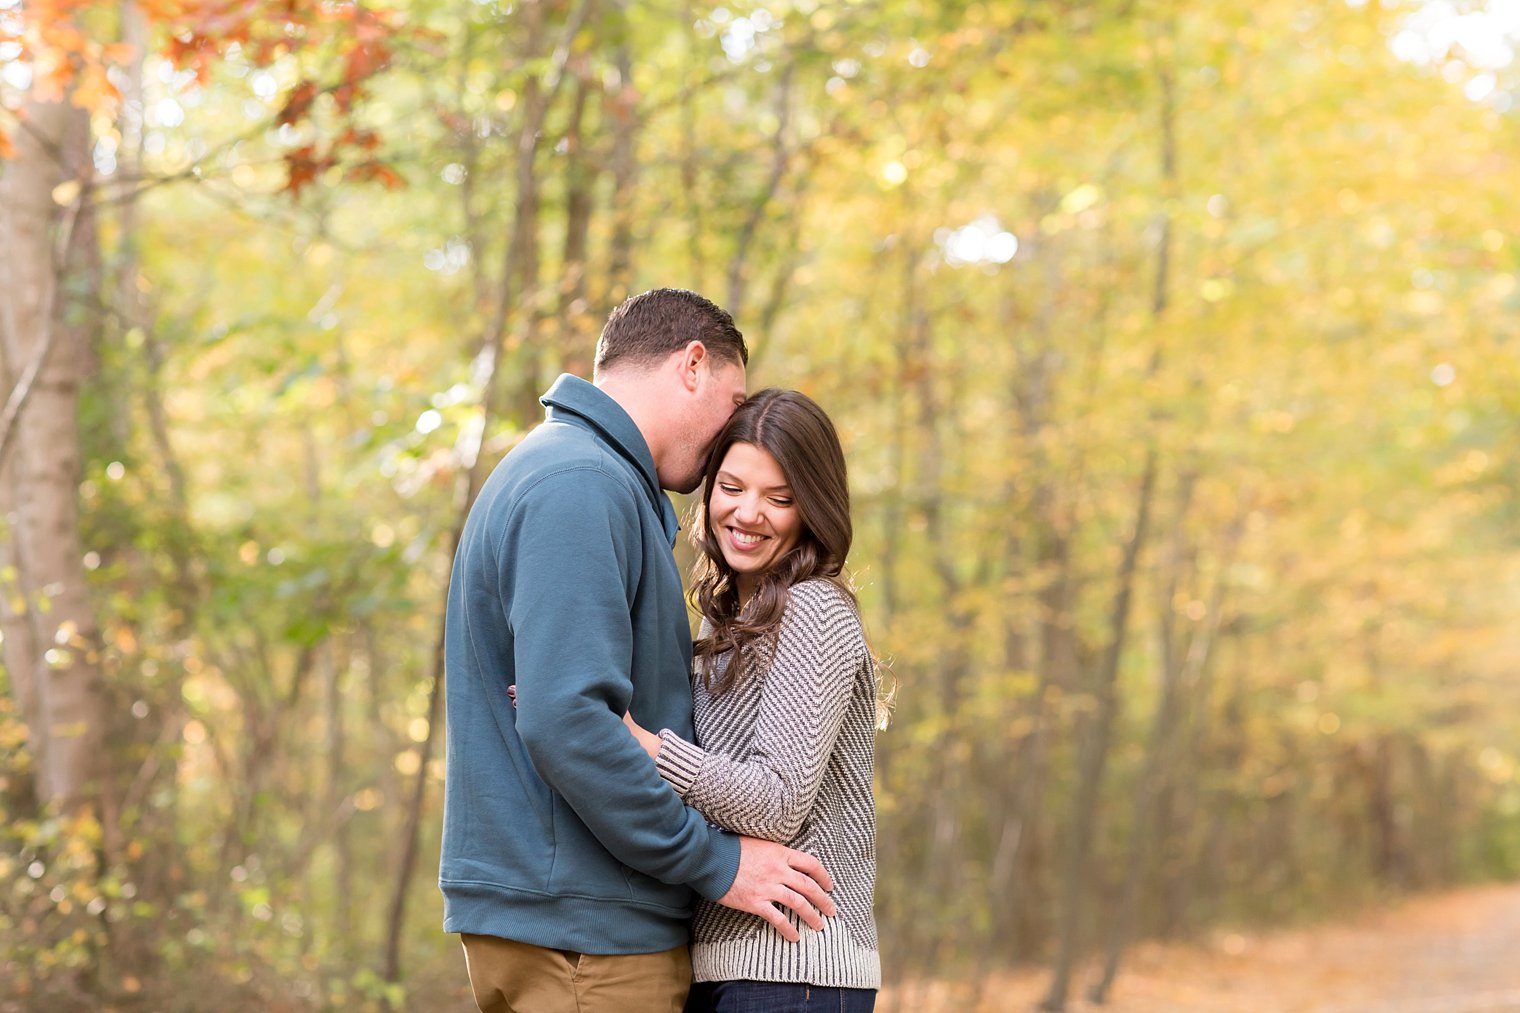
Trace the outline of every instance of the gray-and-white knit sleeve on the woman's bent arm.
[[781, 618], [749, 756], [707, 751], [666, 729], [660, 774], [713, 823], [790, 841], [818, 797], [868, 656], [845, 595], [821, 581], [798, 584]]

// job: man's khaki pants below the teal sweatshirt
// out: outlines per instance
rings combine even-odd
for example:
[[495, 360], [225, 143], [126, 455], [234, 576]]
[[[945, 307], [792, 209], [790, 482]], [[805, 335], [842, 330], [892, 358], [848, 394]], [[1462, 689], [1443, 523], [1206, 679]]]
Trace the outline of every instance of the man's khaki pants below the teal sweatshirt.
[[459, 937], [482, 1013], [681, 1013], [686, 946], [663, 954], [576, 954], [496, 935]]

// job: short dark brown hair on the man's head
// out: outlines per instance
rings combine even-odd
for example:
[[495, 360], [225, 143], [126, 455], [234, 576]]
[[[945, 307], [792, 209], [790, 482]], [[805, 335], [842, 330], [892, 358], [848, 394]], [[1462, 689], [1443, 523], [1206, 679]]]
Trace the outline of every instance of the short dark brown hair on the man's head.
[[619, 365], [652, 365], [693, 341], [720, 360], [749, 362], [745, 336], [727, 310], [686, 289], [651, 289], [623, 300], [606, 318], [594, 370], [600, 376]]

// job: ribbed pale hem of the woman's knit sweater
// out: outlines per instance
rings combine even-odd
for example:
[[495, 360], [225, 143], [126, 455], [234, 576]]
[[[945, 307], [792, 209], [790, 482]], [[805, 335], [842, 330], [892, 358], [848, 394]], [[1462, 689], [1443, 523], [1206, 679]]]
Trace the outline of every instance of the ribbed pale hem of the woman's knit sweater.
[[882, 957], [830, 919], [787, 943], [771, 928], [748, 938], [692, 943], [693, 981], [795, 981], [821, 989], [880, 989]]

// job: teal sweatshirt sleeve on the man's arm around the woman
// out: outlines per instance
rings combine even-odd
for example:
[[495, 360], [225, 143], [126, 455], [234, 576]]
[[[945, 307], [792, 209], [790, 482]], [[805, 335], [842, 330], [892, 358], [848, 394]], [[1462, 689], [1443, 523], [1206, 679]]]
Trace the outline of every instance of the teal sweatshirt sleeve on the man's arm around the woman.
[[638, 508], [597, 468], [523, 494], [499, 545], [515, 643], [517, 732], [534, 770], [620, 862], [708, 899], [728, 891], [739, 841], [660, 779], [623, 727], [632, 697]]

